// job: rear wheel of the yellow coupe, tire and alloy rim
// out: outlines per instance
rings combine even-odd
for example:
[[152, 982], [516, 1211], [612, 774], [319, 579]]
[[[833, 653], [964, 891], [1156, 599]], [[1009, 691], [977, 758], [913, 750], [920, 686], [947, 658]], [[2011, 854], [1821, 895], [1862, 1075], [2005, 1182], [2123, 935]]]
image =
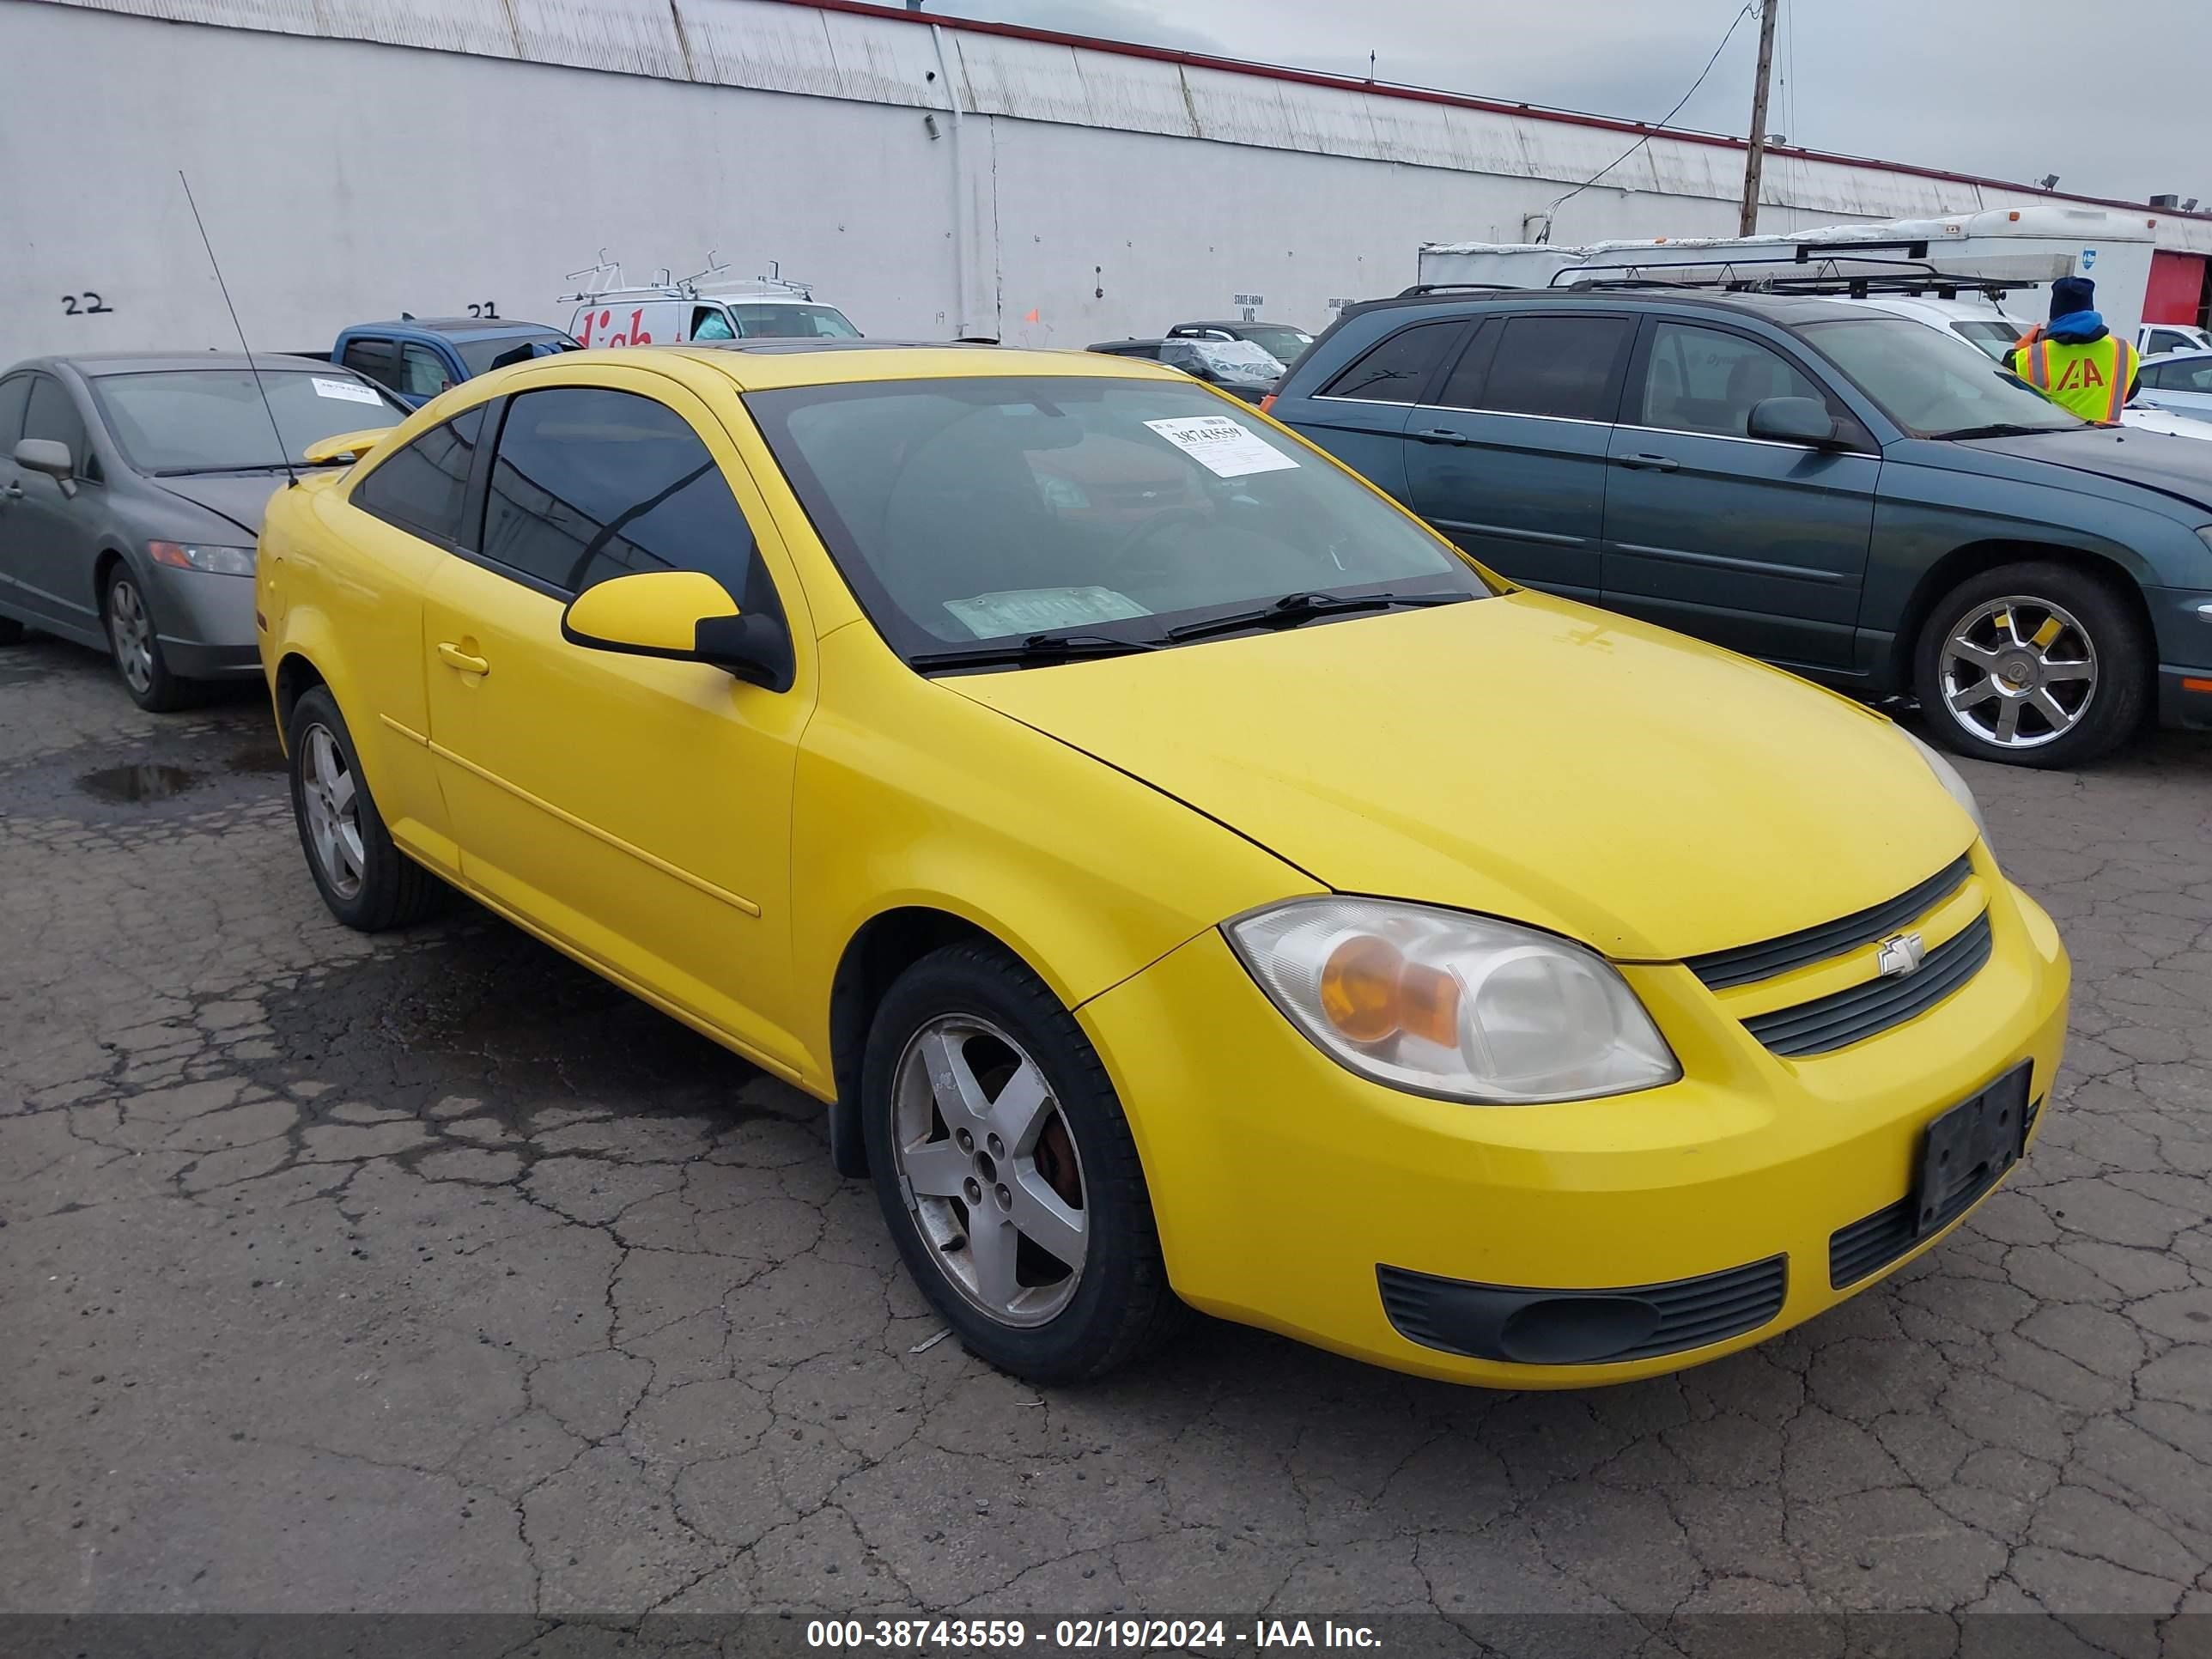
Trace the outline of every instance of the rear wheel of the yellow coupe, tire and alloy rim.
[[316, 686], [292, 706], [285, 728], [292, 816], [330, 914], [363, 933], [422, 920], [445, 894], [385, 830], [338, 703]]

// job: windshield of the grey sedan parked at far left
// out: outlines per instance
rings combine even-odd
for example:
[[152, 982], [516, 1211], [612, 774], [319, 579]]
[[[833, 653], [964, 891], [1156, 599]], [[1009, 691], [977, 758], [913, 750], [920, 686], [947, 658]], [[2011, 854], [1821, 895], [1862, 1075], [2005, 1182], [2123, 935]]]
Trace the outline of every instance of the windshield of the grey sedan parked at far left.
[[[268, 392], [268, 407], [261, 392]], [[394, 427], [407, 411], [343, 369], [157, 369], [93, 380], [100, 418], [142, 473], [219, 473], [299, 462], [341, 431]], [[270, 429], [270, 411], [283, 445]]]

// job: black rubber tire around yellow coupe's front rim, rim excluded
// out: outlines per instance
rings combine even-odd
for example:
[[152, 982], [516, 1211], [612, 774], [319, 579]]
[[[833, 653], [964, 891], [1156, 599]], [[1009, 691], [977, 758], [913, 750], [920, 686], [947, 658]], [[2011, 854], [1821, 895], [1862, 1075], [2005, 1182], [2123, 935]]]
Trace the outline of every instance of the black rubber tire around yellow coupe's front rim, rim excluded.
[[[1035, 1060], [1079, 1164], [1086, 1259], [1075, 1287], [1040, 1325], [1011, 1325], [971, 1303], [942, 1265], [902, 1179], [894, 1086], [909, 1044], [936, 1020], [982, 1020]], [[1188, 1310], [1168, 1287], [1152, 1199], [1128, 1119], [1082, 1026], [1035, 973], [991, 945], [947, 945], [909, 967], [883, 998], [860, 1068], [860, 1117], [883, 1217], [907, 1272], [978, 1358], [1033, 1383], [1104, 1376], [1172, 1336]], [[991, 1203], [991, 1199], [984, 1199]]]

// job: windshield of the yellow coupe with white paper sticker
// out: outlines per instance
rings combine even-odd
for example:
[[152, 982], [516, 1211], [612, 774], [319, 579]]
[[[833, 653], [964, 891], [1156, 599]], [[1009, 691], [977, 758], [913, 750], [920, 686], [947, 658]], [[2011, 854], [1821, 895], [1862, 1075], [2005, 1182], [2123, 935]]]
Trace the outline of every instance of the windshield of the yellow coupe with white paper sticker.
[[1048, 630], [1159, 644], [1292, 595], [1493, 593], [1418, 520], [1194, 385], [878, 380], [745, 403], [905, 657]]

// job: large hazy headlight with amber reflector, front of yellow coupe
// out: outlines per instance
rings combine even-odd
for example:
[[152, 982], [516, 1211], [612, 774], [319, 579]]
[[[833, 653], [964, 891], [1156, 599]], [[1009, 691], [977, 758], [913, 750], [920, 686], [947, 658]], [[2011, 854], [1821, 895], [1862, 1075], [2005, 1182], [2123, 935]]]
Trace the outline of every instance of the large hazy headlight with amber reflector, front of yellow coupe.
[[1524, 1106], [1681, 1077], [1613, 964], [1551, 933], [1383, 898], [1298, 898], [1223, 933], [1323, 1053], [1394, 1088]]

